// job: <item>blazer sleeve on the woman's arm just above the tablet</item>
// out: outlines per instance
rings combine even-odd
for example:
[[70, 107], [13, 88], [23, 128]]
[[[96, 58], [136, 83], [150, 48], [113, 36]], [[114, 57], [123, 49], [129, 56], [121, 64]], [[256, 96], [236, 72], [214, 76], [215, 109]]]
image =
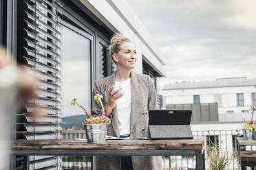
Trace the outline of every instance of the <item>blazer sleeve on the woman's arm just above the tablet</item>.
[[156, 94], [156, 88], [153, 83], [153, 80], [151, 77], [147, 76], [148, 84], [149, 84], [149, 100], [148, 100], [148, 108], [151, 109], [159, 109], [158, 107], [158, 101], [157, 101], [157, 94]]

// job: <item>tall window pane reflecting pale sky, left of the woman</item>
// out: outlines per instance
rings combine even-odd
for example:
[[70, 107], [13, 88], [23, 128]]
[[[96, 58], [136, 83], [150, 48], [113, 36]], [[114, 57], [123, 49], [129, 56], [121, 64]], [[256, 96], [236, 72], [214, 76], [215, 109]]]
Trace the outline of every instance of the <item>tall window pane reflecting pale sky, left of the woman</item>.
[[63, 27], [63, 116], [84, 114], [78, 106], [71, 106], [70, 101], [77, 97], [91, 112], [91, 67], [90, 40]]

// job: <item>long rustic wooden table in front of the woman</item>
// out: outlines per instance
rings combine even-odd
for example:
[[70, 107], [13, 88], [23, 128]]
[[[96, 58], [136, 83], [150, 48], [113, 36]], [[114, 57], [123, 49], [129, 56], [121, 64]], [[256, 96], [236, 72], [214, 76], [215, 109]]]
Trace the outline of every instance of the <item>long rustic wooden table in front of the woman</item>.
[[[91, 144], [80, 140], [12, 141], [12, 154], [30, 155], [81, 155], [81, 156], [196, 156], [196, 169], [204, 166], [204, 139], [187, 140], [107, 140]], [[29, 165], [26, 165], [28, 167]]]

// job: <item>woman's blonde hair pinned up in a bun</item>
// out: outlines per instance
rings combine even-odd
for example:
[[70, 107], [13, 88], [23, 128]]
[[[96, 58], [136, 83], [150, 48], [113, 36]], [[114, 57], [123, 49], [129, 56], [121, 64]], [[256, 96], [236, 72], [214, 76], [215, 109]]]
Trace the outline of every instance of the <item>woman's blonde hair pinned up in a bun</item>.
[[118, 53], [118, 51], [120, 51], [120, 45], [122, 45], [124, 42], [131, 42], [131, 40], [125, 36], [122, 36], [120, 33], [116, 33], [112, 36], [109, 45], [109, 54], [111, 58], [114, 53]]

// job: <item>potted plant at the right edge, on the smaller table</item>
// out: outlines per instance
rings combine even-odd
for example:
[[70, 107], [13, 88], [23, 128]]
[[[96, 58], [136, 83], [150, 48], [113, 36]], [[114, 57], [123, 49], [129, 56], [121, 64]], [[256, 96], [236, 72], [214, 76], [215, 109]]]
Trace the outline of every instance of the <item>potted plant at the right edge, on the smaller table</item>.
[[253, 121], [253, 114], [256, 111], [256, 106], [250, 106], [251, 119], [244, 123], [243, 134], [244, 140], [256, 139], [256, 123]]

